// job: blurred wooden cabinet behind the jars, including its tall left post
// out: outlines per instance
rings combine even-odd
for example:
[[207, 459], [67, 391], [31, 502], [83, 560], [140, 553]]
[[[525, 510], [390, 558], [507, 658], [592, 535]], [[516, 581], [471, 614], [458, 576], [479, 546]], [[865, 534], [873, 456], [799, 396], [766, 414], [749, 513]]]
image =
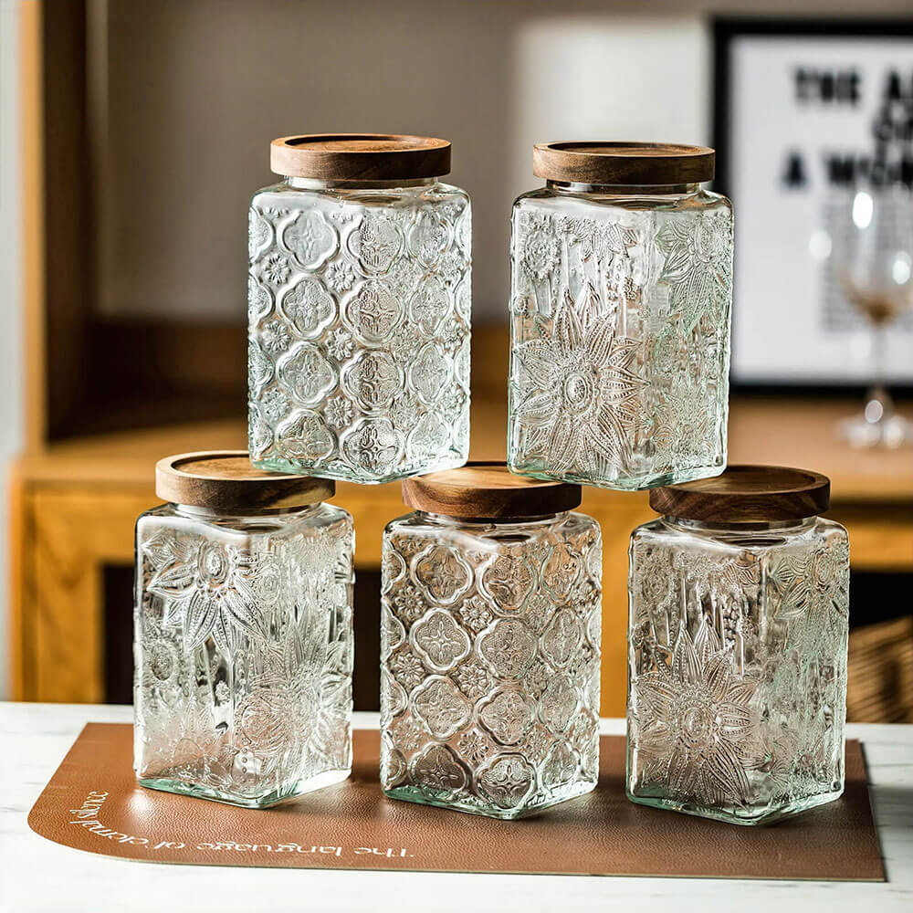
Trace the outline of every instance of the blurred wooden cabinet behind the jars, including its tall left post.
[[[105, 613], [130, 614], [131, 605], [103, 604], [103, 576], [110, 565], [132, 563], [133, 521], [156, 500], [155, 461], [246, 442], [243, 264], [234, 324], [126, 320], [113, 307], [120, 286], [109, 280], [117, 262], [110, 250], [121, 222], [112, 220], [104, 184], [117, 165], [106, 157], [111, 86], [105, 54], [92, 51], [107, 40], [108, 8], [104, 0], [19, 7], [28, 427], [26, 452], [10, 477], [10, 653], [13, 694], [29, 700], [104, 699]], [[134, 152], [119, 160], [121, 173]], [[120, 205], [127, 205], [122, 198]], [[243, 206], [238, 212], [243, 220]], [[194, 313], [182, 283], [162, 297], [169, 296], [172, 310]], [[472, 345], [472, 456], [503, 458], [507, 331], [477, 326]], [[854, 453], [841, 445], [834, 423], [857, 406], [736, 400], [729, 457], [826, 473], [831, 515], [850, 530], [854, 567], [910, 571], [913, 453]], [[355, 518], [357, 569], [376, 569], [384, 524], [405, 512], [399, 487], [338, 490], [336, 501]], [[645, 493], [594, 488], [584, 493], [583, 509], [603, 528], [602, 709], [620, 716], [627, 540], [653, 514]], [[852, 611], [864, 617], [866, 606]], [[376, 659], [362, 651], [359, 662]]]

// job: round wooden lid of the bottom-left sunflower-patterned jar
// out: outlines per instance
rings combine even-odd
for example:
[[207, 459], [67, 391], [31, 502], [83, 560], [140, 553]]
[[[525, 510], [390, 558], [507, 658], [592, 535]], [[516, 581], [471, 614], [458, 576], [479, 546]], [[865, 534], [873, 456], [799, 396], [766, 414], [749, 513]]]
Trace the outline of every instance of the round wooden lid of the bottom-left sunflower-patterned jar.
[[329, 478], [287, 476], [251, 465], [247, 450], [165, 456], [155, 464], [155, 493], [174, 504], [230, 513], [297, 508], [332, 498]]

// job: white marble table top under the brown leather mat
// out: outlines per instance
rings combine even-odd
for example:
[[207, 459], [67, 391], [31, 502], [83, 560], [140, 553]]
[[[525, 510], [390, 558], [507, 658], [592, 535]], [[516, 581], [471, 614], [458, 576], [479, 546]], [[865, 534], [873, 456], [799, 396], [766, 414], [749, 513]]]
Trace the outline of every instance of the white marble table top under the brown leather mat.
[[[356, 714], [355, 725], [377, 725]], [[850, 725], [866, 748], [887, 884], [683, 878], [453, 875], [167, 866], [110, 859], [33, 834], [26, 815], [88, 721], [129, 722], [129, 707], [0, 703], [0, 911], [314, 909], [477, 913], [725, 909], [913, 910], [913, 726]], [[624, 721], [603, 720], [603, 733]], [[506, 829], [507, 830], [507, 829]]]

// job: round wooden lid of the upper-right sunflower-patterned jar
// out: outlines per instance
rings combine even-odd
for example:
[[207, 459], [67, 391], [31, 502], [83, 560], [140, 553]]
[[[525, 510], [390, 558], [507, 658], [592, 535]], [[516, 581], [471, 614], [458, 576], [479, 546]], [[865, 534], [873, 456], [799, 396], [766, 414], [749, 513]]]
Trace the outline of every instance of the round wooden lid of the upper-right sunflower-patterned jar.
[[670, 142], [537, 142], [532, 173], [573, 184], [699, 184], [713, 178], [707, 146]]

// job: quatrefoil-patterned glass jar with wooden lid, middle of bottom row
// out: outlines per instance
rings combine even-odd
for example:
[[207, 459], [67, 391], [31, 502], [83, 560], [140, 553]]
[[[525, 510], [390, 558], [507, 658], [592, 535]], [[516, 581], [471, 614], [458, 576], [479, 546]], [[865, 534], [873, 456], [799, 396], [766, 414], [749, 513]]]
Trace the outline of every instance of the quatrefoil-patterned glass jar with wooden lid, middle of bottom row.
[[383, 535], [381, 785], [518, 818], [596, 784], [602, 540], [580, 488], [412, 478]]

